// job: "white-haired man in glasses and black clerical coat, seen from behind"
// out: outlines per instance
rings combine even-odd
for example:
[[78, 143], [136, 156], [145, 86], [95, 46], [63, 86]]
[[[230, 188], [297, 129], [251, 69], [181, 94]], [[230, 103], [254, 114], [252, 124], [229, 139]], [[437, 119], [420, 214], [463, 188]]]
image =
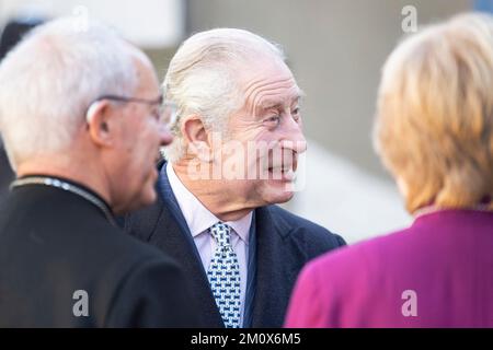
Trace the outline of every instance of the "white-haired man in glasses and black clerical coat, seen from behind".
[[60, 19], [7, 56], [0, 81], [18, 175], [0, 211], [0, 327], [195, 326], [182, 270], [114, 220], [154, 201], [172, 140], [148, 58]]

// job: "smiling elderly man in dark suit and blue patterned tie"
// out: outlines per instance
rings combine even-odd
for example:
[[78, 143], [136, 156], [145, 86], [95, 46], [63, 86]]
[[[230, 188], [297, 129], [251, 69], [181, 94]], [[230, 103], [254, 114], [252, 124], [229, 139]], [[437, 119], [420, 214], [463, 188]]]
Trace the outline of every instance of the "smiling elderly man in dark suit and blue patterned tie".
[[188, 38], [163, 83], [177, 107], [159, 200], [126, 231], [179, 260], [209, 327], [280, 327], [309, 259], [344, 245], [275, 206], [294, 196], [306, 150], [298, 88], [283, 52], [246, 31]]

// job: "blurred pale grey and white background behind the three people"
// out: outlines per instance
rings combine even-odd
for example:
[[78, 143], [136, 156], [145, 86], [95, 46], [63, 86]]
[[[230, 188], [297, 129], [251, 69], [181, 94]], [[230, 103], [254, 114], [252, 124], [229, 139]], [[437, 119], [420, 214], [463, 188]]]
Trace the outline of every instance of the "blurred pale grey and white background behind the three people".
[[[307, 94], [309, 140], [303, 186], [286, 207], [354, 243], [412, 221], [371, 144], [386, 57], [414, 24], [471, 10], [492, 11], [493, 0], [0, 0], [0, 28], [95, 18], [145, 49], [160, 79], [196, 32], [245, 28], [279, 44]], [[3, 155], [0, 162], [4, 196], [11, 173]]]

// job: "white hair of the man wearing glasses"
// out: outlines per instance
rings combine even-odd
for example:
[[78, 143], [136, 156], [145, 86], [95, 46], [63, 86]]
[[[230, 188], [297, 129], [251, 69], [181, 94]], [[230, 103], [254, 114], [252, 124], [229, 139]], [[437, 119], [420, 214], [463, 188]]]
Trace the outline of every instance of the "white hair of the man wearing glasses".
[[89, 105], [138, 86], [142, 55], [112, 30], [74, 18], [34, 28], [0, 65], [0, 131], [13, 168], [70, 147]]

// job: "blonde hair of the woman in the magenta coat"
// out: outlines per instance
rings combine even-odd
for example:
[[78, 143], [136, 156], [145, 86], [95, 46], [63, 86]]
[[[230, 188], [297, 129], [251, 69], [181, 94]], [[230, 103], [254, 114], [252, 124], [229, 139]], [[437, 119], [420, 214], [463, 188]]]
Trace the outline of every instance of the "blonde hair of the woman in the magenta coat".
[[461, 14], [401, 43], [383, 67], [374, 131], [410, 212], [490, 197], [493, 18]]

